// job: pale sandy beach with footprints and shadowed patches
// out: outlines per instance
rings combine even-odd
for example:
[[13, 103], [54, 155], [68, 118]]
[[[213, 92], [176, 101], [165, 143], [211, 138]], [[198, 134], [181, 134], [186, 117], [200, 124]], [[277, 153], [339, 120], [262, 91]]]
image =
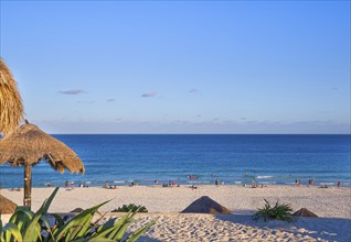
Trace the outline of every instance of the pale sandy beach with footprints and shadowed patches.
[[[33, 188], [32, 208], [36, 210], [53, 188]], [[1, 195], [21, 205], [23, 191], [2, 189]], [[233, 211], [233, 215], [179, 213], [201, 196]], [[254, 221], [252, 215], [269, 202], [290, 204], [294, 211], [307, 208], [320, 218], [300, 218], [295, 222]], [[130, 227], [158, 218], [157, 223], [140, 241], [351, 241], [351, 189], [294, 186], [249, 188], [241, 186], [181, 187], [98, 187], [61, 188], [50, 211], [70, 212], [75, 208], [89, 208], [113, 199], [102, 210], [110, 211], [123, 205], [145, 206], [149, 212], [140, 213]], [[118, 216], [110, 213], [110, 216]]]

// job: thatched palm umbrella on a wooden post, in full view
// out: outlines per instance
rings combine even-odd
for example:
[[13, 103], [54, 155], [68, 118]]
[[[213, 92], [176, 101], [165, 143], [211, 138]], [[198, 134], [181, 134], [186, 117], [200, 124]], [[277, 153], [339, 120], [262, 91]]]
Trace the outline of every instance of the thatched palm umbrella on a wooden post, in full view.
[[31, 207], [32, 165], [46, 160], [55, 169], [63, 173], [84, 174], [81, 158], [67, 145], [41, 131], [34, 124], [23, 124], [0, 140], [0, 165], [24, 166], [23, 205]]

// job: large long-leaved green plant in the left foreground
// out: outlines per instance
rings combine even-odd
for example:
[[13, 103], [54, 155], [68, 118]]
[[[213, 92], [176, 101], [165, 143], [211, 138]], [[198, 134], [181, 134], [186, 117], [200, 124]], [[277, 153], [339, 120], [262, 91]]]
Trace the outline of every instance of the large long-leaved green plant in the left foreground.
[[[109, 219], [100, 223], [104, 216], [92, 222], [97, 210], [108, 201], [82, 211], [70, 221], [64, 221], [59, 215], [47, 213], [49, 207], [59, 188], [46, 199], [42, 207], [34, 213], [26, 207], [19, 207], [3, 227], [0, 220], [0, 242], [8, 241], [42, 241], [42, 242], [94, 242], [94, 241], [123, 241], [128, 226], [134, 220], [136, 212], [117, 219]], [[50, 224], [50, 218], [55, 218], [55, 224]], [[156, 220], [138, 229], [126, 238], [125, 242], [137, 241]]]

